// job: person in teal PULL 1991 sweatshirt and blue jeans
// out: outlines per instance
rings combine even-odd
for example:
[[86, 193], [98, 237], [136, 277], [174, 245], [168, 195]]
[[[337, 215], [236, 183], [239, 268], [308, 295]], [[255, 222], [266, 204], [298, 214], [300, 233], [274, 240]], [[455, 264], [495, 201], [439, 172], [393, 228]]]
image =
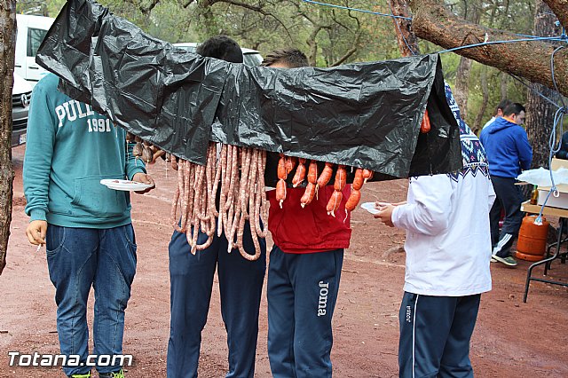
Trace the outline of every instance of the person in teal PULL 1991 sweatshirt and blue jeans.
[[[32, 93], [23, 171], [30, 217], [26, 234], [30, 243], [46, 248], [61, 354], [80, 360], [67, 360], [63, 371], [86, 378], [91, 376], [86, 314], [91, 286], [93, 354], [121, 355], [124, 311], [136, 272], [129, 193], [100, 180], [128, 178], [150, 185], [138, 193], [154, 188], [154, 180], [131, 154], [126, 131], [59, 92], [58, 83], [57, 76], [46, 75]], [[97, 370], [99, 377], [123, 377], [120, 364]]]

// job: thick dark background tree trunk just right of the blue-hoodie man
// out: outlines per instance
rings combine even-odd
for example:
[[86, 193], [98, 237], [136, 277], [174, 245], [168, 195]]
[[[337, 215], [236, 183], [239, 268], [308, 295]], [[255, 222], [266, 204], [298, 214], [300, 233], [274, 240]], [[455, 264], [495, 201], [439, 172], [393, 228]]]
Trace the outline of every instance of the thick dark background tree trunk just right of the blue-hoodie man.
[[[550, 12], [547, 4], [539, 0], [536, 4], [534, 16], [534, 34], [543, 36], [554, 35], [555, 21], [556, 17]], [[529, 91], [525, 107], [527, 110], [526, 133], [529, 137], [529, 143], [533, 146], [533, 168], [548, 168], [548, 156], [550, 154], [548, 138], [552, 132], [556, 107], [552, 106], [534, 91], [542, 93], [555, 102], [559, 99], [558, 92], [549, 90], [539, 83], [531, 83], [530, 87], [533, 91]]]

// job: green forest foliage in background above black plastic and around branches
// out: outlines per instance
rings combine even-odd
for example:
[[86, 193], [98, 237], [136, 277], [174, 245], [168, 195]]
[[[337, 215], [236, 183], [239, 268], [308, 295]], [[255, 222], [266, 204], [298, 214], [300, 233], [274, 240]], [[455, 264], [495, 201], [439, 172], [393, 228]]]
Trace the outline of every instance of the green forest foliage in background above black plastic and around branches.
[[[275, 48], [293, 46], [309, 56], [319, 67], [338, 61], [395, 59], [398, 51], [396, 28], [388, 17], [304, 3], [301, 0], [100, 0], [111, 12], [138, 25], [156, 38], [177, 42], [200, 42], [211, 35], [233, 37], [243, 47], [267, 53]], [[337, 5], [372, 12], [390, 13], [387, 2], [334, 0]], [[39, 7], [38, 12], [55, 17], [65, 0], [21, 0], [18, 12]], [[502, 28], [519, 34], [532, 34], [535, 0], [446, 0], [452, 12], [475, 20], [488, 28]], [[427, 41], [420, 42], [422, 53], [440, 51]], [[343, 57], [346, 54], [346, 59]], [[460, 56], [441, 55], [446, 81], [453, 85]], [[479, 113], [483, 90], [482, 65], [474, 62], [469, 76], [468, 122], [473, 125]], [[501, 75], [485, 67], [488, 79], [488, 104], [483, 119], [493, 115], [501, 101]], [[506, 79], [507, 97], [525, 102], [525, 86]]]

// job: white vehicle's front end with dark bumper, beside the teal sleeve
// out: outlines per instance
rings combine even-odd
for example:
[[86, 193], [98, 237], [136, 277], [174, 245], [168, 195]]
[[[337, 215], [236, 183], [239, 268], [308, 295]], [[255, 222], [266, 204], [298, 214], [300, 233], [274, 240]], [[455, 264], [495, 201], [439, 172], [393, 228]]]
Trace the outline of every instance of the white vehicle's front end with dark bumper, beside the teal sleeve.
[[26, 143], [28, 129], [29, 101], [32, 98], [32, 85], [14, 73], [12, 88], [12, 147]]

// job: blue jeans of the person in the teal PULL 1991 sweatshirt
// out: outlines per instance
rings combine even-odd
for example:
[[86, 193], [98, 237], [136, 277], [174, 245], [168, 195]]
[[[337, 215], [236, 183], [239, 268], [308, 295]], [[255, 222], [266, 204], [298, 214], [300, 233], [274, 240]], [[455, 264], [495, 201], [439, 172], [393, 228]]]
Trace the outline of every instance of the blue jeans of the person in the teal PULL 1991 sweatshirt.
[[[87, 300], [95, 290], [93, 354], [122, 354], [124, 310], [136, 272], [132, 224], [110, 229], [71, 228], [49, 224], [47, 266], [55, 286], [57, 331], [61, 354], [89, 355]], [[121, 366], [97, 366], [99, 373]], [[85, 374], [90, 366], [63, 366], [67, 375]]]

